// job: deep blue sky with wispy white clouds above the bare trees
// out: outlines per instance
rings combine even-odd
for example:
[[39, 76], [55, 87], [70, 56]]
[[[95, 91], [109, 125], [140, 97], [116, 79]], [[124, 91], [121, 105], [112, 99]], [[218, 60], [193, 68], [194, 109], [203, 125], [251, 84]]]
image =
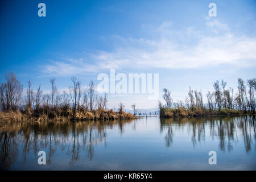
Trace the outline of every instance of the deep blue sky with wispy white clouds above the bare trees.
[[[46, 4], [46, 17], [38, 4]], [[208, 5], [217, 5], [217, 17]], [[71, 76], [96, 84], [99, 73], [159, 73], [159, 91], [184, 100], [188, 87], [237, 87], [255, 78], [256, 1], [1, 1], [0, 81], [14, 72], [24, 88], [67, 90]], [[161, 94], [159, 100], [162, 100]], [[109, 107], [156, 107], [145, 94], [110, 94]]]

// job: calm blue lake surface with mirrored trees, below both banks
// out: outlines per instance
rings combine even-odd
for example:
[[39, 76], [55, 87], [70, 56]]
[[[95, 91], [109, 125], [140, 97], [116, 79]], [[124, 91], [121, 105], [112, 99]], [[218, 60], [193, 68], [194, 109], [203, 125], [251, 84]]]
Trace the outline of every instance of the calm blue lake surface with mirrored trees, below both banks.
[[[6, 124], [0, 169], [255, 170], [255, 127], [253, 117]], [[46, 165], [38, 164], [41, 150]]]

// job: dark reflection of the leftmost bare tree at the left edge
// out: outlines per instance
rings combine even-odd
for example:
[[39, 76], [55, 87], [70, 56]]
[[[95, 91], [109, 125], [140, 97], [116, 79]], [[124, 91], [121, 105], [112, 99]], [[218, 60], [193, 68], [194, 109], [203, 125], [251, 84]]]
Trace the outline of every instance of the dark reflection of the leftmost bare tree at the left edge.
[[9, 169], [11, 164], [18, 158], [16, 133], [0, 133], [0, 169]]

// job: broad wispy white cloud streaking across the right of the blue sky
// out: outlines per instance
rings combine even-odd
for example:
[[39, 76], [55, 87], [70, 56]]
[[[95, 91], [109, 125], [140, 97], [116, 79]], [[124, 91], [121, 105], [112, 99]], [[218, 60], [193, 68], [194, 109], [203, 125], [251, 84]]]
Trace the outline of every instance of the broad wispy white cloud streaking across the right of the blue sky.
[[[255, 66], [256, 38], [234, 35], [229, 27], [215, 19], [207, 20], [207, 34], [188, 27], [186, 31], [173, 31], [171, 22], [163, 22], [151, 39], [117, 38], [122, 46], [113, 51], [96, 51], [86, 58], [52, 61], [44, 72], [74, 75], [100, 72], [109, 68], [201, 68], [221, 64], [233, 67]], [[209, 34], [212, 32], [212, 34]], [[123, 46], [125, 45], [125, 46]]]

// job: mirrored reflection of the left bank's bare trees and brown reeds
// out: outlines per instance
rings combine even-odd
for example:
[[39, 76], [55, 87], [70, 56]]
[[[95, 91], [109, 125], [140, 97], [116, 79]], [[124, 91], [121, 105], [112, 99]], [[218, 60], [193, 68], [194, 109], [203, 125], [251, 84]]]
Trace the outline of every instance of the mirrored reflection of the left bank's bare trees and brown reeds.
[[[80, 158], [80, 151], [85, 151], [89, 160], [93, 159], [94, 146], [102, 141], [106, 146], [106, 127], [122, 127], [128, 121], [88, 121], [88, 122], [49, 122], [49, 123], [9, 123], [0, 127], [1, 168], [9, 169], [18, 158], [20, 147], [23, 162], [28, 152], [33, 151], [35, 158], [39, 150], [47, 153], [47, 164], [51, 163], [56, 150], [67, 150], [71, 157], [69, 166]], [[11, 132], [10, 132], [11, 131]]]

